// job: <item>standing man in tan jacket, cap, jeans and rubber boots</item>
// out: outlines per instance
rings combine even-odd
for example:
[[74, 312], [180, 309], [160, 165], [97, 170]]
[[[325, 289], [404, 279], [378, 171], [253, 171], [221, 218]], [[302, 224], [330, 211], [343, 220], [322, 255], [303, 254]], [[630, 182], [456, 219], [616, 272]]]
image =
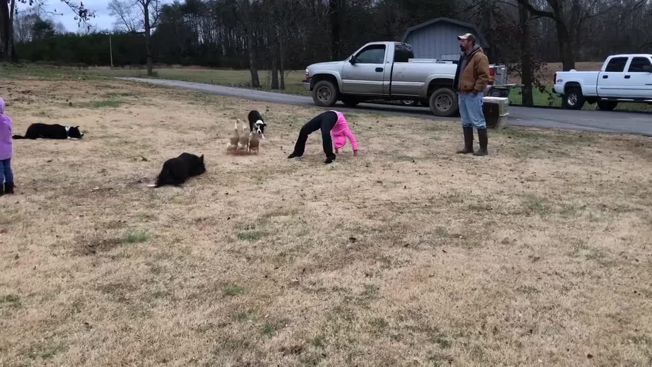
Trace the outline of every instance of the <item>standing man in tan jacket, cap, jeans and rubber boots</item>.
[[[453, 89], [458, 93], [464, 149], [457, 153], [487, 155], [487, 125], [482, 114], [482, 91], [489, 82], [489, 60], [482, 48], [475, 44], [471, 33], [457, 37], [462, 55], [457, 63]], [[473, 127], [478, 131], [480, 150], [473, 152]]]

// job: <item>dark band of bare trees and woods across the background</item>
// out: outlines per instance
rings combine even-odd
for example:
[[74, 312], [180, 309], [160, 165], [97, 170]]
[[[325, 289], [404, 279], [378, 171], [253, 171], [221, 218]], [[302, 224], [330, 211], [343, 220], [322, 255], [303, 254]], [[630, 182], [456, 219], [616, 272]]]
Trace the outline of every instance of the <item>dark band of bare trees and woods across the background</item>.
[[[35, 10], [16, 13], [16, 1]], [[82, 23], [94, 16], [81, 3], [50, 1], [75, 9]], [[543, 62], [569, 70], [578, 60], [652, 53], [652, 0], [111, 0], [115, 29], [83, 34], [61, 30], [43, 5], [0, 0], [1, 58], [109, 65], [111, 35], [116, 66], [249, 68], [254, 87], [257, 69], [271, 69], [279, 88], [279, 69], [343, 59], [441, 16], [478, 25], [492, 44], [490, 61], [509, 64], [530, 86]]]

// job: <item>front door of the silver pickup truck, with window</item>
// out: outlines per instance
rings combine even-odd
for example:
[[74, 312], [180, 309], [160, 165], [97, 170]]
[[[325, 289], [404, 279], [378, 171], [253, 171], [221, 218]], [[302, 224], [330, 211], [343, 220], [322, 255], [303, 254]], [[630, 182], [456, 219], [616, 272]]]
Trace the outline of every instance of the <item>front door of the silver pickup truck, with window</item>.
[[385, 44], [370, 44], [344, 63], [342, 92], [346, 94], [383, 94]]

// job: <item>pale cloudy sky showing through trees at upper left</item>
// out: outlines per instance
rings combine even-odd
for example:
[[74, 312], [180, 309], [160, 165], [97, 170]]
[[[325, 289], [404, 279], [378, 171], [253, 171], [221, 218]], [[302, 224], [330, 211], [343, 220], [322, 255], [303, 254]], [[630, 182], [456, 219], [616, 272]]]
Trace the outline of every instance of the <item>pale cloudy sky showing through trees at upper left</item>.
[[[82, 3], [84, 7], [95, 12], [95, 18], [91, 18], [89, 24], [95, 26], [96, 30], [113, 29], [113, 17], [109, 15], [109, 11], [106, 9], [109, 3], [108, 0], [82, 0]], [[18, 5], [18, 11], [29, 9], [27, 4], [22, 4], [18, 1], [16, 1], [16, 5]], [[48, 16], [48, 18], [52, 18], [55, 22], [61, 22], [69, 32], [76, 32], [78, 30], [77, 21], [75, 20], [76, 14], [60, 0], [48, 0], [46, 8], [51, 12], [57, 10], [57, 13], [63, 13], [63, 15]]]

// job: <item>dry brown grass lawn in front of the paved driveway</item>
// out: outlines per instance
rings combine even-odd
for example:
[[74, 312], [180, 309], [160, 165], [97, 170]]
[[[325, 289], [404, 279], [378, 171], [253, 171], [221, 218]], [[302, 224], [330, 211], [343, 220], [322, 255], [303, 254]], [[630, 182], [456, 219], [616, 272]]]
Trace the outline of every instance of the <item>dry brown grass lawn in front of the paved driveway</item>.
[[[1, 80], [1, 366], [649, 366], [649, 138], [489, 132], [348, 114], [323, 165], [317, 109], [102, 79]], [[226, 154], [258, 108], [259, 155]], [[477, 144], [477, 141], [476, 141]], [[207, 172], [147, 187], [181, 152]]]

